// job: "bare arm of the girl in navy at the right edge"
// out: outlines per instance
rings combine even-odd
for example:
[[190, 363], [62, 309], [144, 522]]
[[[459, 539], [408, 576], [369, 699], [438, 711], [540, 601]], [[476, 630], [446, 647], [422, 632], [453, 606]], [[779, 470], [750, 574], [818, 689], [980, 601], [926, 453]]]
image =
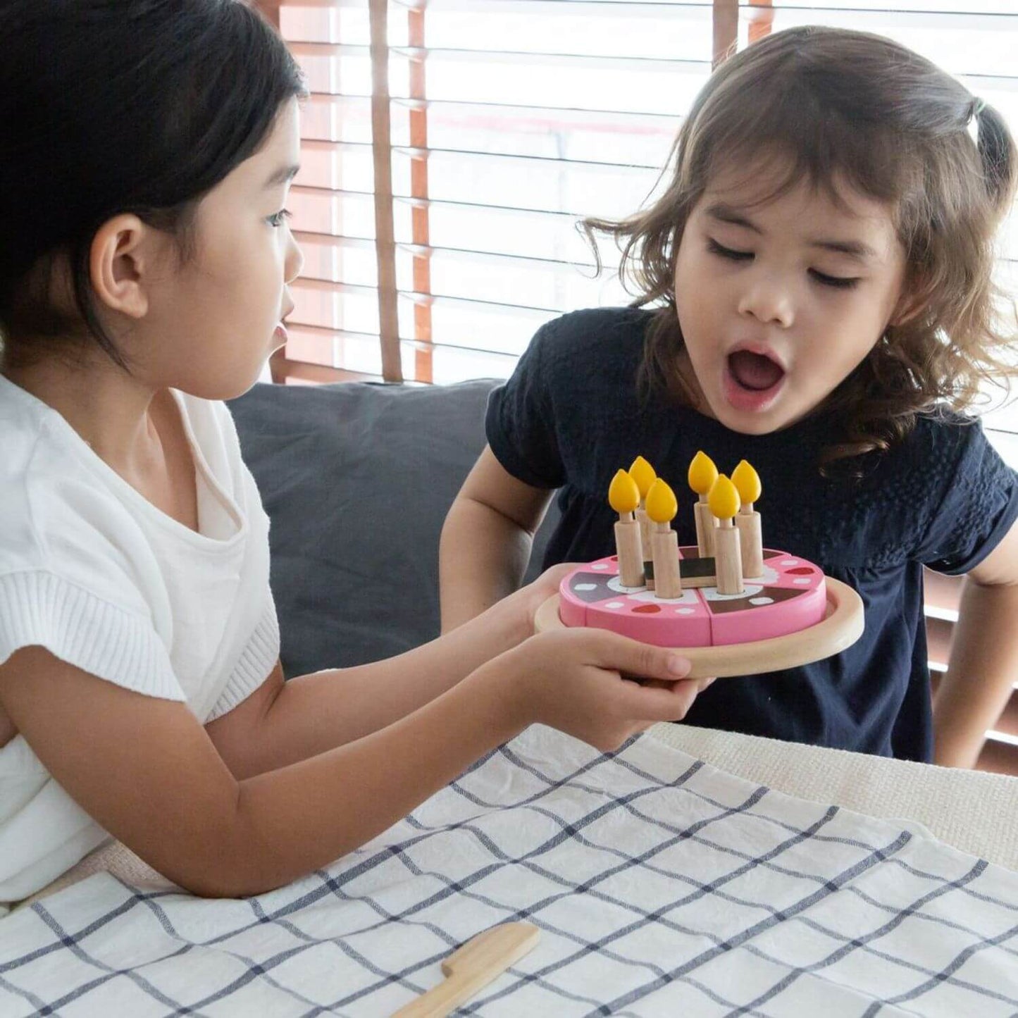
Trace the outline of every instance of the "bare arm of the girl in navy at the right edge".
[[967, 576], [934, 700], [934, 760], [974, 767], [1018, 681], [1018, 525]]

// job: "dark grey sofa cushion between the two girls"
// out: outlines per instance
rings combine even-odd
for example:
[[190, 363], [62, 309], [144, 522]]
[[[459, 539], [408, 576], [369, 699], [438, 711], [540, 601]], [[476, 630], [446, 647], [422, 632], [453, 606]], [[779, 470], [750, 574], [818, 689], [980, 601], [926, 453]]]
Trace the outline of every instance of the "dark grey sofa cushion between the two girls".
[[376, 661], [438, 635], [439, 534], [484, 448], [496, 384], [257, 385], [230, 403], [272, 519], [287, 676]]

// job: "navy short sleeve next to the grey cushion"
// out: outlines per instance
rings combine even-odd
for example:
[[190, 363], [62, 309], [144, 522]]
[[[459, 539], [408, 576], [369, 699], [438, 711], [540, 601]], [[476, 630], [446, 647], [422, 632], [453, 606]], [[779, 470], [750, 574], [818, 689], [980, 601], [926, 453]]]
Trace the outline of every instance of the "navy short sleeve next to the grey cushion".
[[554, 327], [551, 322], [538, 330], [512, 377], [489, 396], [485, 418], [496, 459], [534, 488], [559, 488], [565, 483], [553, 412], [554, 363], [548, 352]]

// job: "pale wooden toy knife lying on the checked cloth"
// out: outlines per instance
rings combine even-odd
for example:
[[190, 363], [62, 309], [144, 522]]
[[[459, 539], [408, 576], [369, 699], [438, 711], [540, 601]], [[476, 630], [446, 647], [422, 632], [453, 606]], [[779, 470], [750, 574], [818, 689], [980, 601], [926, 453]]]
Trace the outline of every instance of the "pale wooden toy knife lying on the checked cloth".
[[400, 1008], [392, 1018], [445, 1018], [519, 961], [540, 937], [541, 930], [531, 922], [505, 922], [477, 934], [442, 962], [444, 982]]

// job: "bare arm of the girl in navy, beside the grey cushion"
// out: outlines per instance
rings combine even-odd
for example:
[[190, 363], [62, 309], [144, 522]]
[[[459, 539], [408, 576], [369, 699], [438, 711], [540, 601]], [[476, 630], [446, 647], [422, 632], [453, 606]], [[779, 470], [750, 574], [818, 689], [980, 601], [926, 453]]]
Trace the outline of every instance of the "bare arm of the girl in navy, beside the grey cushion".
[[552, 493], [517, 480], [486, 446], [442, 527], [439, 588], [448, 632], [519, 586]]

